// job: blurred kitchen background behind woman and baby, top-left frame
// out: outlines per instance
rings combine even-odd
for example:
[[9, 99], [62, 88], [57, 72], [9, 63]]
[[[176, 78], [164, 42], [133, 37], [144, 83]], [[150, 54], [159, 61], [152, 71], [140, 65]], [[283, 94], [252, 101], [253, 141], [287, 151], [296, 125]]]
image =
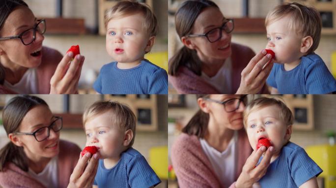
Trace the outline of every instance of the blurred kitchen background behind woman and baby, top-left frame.
[[[101, 67], [113, 61], [105, 47], [104, 13], [118, 0], [25, 0], [35, 17], [46, 19], [44, 46], [63, 55], [79, 45], [85, 56], [80, 94], [94, 94], [92, 84]], [[145, 58], [168, 70], [168, 0], [138, 0], [148, 4], [158, 20], [159, 33]]]

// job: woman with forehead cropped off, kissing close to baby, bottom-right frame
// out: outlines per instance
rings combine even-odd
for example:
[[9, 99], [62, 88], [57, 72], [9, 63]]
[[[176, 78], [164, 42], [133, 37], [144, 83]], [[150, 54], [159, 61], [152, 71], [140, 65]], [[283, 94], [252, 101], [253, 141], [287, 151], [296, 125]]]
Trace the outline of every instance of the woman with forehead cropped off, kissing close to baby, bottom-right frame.
[[172, 146], [181, 188], [250, 188], [266, 173], [273, 147], [255, 167], [266, 148], [252, 153], [243, 129], [246, 102], [247, 95], [197, 95], [200, 110]]

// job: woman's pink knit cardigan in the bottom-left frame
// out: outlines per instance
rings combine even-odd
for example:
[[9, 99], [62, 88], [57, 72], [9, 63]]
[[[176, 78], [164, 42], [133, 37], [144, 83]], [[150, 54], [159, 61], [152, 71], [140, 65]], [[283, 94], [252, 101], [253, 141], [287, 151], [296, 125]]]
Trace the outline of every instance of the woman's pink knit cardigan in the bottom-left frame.
[[[69, 141], [59, 141], [58, 154], [58, 188], [66, 188], [69, 184], [81, 149]], [[3, 188], [45, 188], [39, 181], [32, 178], [28, 172], [13, 163], [5, 164], [4, 171], [0, 172], [0, 187]]]

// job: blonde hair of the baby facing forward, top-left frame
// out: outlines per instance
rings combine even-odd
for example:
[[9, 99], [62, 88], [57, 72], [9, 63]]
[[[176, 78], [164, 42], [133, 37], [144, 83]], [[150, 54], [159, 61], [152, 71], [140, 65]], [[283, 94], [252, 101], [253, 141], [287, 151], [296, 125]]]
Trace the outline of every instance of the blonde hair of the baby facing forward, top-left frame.
[[146, 3], [134, 0], [123, 0], [116, 3], [105, 13], [105, 27], [112, 19], [141, 13], [144, 17], [142, 28], [144, 28], [150, 37], [156, 36], [158, 32], [158, 22], [156, 16]]

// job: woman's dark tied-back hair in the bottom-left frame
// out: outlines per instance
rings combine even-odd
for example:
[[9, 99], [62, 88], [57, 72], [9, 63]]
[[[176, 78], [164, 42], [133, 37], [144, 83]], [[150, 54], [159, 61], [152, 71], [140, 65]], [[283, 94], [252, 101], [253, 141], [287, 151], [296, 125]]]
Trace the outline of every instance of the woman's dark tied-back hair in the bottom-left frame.
[[[19, 130], [21, 121], [33, 107], [48, 104], [37, 96], [20, 95], [12, 98], [3, 108], [3, 127], [7, 133]], [[28, 159], [23, 147], [15, 145], [13, 142], [7, 143], [0, 150], [0, 171], [6, 163], [13, 163], [24, 171], [28, 171]]]

